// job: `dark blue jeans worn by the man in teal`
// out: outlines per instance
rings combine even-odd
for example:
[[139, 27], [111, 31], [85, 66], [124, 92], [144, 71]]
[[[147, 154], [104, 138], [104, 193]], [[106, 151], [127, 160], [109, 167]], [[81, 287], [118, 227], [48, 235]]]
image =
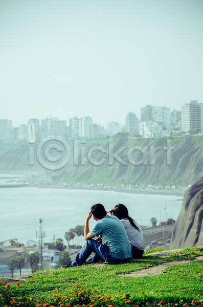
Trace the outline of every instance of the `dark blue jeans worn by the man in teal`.
[[[86, 260], [91, 255], [92, 252], [94, 252], [95, 254], [91, 258]], [[108, 262], [109, 265], [125, 264], [126, 262], [130, 261], [130, 258], [126, 259], [113, 258], [110, 254], [110, 250], [107, 247], [107, 245], [101, 244], [97, 240], [89, 239], [86, 241], [84, 246], [77, 254], [75, 261], [72, 262], [72, 267], [95, 264], [101, 259]]]

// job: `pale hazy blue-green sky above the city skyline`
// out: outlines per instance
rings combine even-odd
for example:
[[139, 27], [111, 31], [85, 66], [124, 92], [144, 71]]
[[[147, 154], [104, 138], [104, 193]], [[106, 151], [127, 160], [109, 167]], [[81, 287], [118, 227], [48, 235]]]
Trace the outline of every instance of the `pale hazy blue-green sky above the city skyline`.
[[202, 0], [0, 0], [0, 118], [203, 103]]

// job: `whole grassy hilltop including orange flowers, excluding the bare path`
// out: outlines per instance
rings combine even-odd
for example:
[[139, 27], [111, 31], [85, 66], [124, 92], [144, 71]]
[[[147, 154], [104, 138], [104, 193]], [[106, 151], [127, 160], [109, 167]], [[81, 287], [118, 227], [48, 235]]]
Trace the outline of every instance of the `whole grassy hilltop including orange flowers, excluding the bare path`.
[[13, 281], [8, 286], [8, 280], [2, 279], [0, 305], [200, 307], [203, 302], [203, 260], [171, 266], [164, 274], [155, 276], [125, 277], [119, 274], [155, 267], [163, 262], [194, 259], [202, 254], [198, 247], [185, 248], [165, 257], [150, 255], [148, 251], [143, 259], [133, 259], [129, 264], [41, 272], [32, 274], [20, 285]]

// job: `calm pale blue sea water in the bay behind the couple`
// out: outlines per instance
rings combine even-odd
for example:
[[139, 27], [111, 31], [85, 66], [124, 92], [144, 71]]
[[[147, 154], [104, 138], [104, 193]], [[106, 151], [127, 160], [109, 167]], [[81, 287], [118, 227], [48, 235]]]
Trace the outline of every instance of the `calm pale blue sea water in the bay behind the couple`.
[[[51, 242], [54, 234], [55, 238], [64, 238], [65, 231], [84, 225], [90, 207], [96, 203], [103, 204], [107, 211], [122, 203], [140, 225], [150, 226], [152, 216], [159, 224], [160, 214], [162, 221], [170, 217], [176, 220], [182, 205], [177, 200], [183, 195], [20, 187], [1, 188], [0, 198], [0, 242], [16, 237], [26, 243], [28, 239], [37, 240], [39, 218], [47, 234], [44, 242]], [[89, 226], [93, 225], [91, 218]]]

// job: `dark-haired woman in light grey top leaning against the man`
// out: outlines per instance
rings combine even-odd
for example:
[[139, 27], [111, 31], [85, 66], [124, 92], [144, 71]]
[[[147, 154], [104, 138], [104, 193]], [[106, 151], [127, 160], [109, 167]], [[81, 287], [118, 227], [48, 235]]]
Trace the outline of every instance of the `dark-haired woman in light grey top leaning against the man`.
[[143, 233], [136, 221], [128, 215], [128, 209], [122, 204], [118, 204], [114, 209], [110, 210], [110, 215], [115, 215], [121, 220], [128, 235], [130, 245], [132, 247], [132, 258], [141, 259], [144, 253], [145, 245]]

